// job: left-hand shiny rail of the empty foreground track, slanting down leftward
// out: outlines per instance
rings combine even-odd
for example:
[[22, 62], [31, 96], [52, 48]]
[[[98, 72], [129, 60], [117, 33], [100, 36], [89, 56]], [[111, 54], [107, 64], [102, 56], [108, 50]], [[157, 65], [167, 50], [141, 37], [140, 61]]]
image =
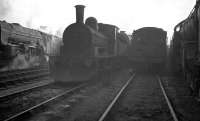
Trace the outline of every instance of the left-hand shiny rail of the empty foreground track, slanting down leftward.
[[120, 95], [122, 94], [122, 92], [126, 89], [126, 87], [130, 84], [131, 80], [133, 79], [133, 77], [135, 76], [135, 74], [133, 74], [128, 81], [126, 82], [126, 84], [124, 84], [124, 86], [121, 88], [121, 90], [117, 93], [117, 95], [115, 96], [115, 98], [112, 100], [112, 102], [108, 105], [108, 107], [106, 108], [105, 112], [101, 115], [101, 117], [99, 118], [98, 121], [104, 121], [104, 119], [106, 118], [106, 116], [108, 115], [108, 113], [110, 112], [110, 110], [112, 109], [112, 107], [114, 106], [114, 104], [117, 102], [117, 100], [119, 99]]

